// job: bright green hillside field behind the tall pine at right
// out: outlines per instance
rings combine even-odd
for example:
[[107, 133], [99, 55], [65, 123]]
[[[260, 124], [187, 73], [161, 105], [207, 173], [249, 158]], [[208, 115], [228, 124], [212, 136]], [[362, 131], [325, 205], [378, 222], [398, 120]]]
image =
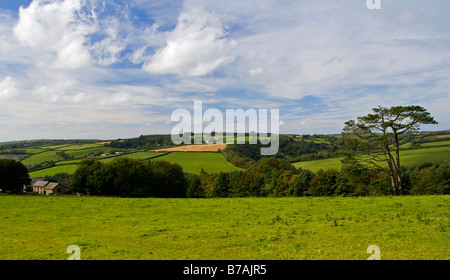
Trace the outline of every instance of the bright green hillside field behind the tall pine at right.
[[[317, 171], [319, 169], [340, 169], [343, 157], [319, 159], [311, 161], [296, 162], [293, 165], [296, 168], [309, 169], [311, 171]], [[435, 147], [435, 148], [423, 148], [415, 150], [403, 150], [400, 151], [401, 164], [407, 167], [418, 166], [424, 162], [431, 162], [435, 164], [443, 163], [446, 160], [450, 160], [450, 146], [447, 147]], [[384, 164], [387, 166], [387, 164]]]

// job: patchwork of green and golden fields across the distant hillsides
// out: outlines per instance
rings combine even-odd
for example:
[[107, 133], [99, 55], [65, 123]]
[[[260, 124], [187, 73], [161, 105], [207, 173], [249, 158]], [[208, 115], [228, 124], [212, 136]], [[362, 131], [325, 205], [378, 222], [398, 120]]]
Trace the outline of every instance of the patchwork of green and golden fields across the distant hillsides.
[[[290, 135], [290, 137], [293, 137], [296, 141], [325, 145], [325, 147], [332, 145], [330, 140], [339, 139], [339, 135], [316, 135], [308, 138]], [[248, 141], [248, 137], [245, 139]], [[425, 142], [421, 143], [419, 147], [413, 146], [411, 141], [402, 144], [402, 165], [411, 167], [424, 162], [442, 164], [450, 159], [449, 133], [422, 136], [421, 139], [424, 139]], [[31, 177], [53, 176], [58, 173], [73, 174], [81, 160], [85, 158], [95, 158], [103, 162], [109, 162], [118, 157], [166, 160], [180, 164], [185, 172], [193, 174], [199, 174], [202, 169], [207, 173], [242, 170], [242, 168], [228, 162], [222, 155], [221, 151], [226, 148], [226, 144], [180, 145], [144, 150], [142, 148], [120, 149], [110, 147], [108, 146], [110, 142], [91, 140], [80, 141], [79, 143], [71, 141], [63, 144], [41, 144], [39, 142], [35, 144], [33, 141], [28, 141], [25, 147], [0, 150], [0, 158], [20, 160], [29, 168]], [[342, 155], [336, 154], [320, 159], [291, 159], [290, 161], [296, 168], [316, 172], [319, 169], [340, 169], [343, 158]]]

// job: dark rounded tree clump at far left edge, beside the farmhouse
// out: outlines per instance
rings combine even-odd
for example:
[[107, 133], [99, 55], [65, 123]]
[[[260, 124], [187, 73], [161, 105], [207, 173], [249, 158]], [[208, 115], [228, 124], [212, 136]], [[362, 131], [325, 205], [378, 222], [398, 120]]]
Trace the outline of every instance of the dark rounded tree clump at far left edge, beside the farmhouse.
[[18, 194], [31, 182], [28, 169], [19, 161], [0, 159], [0, 189]]

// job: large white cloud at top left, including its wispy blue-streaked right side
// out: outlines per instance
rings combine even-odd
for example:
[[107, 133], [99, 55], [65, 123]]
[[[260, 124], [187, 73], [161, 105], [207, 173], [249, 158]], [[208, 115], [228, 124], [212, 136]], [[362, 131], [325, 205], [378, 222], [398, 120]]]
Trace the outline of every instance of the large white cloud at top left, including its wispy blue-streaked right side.
[[126, 21], [121, 15], [99, 18], [104, 8], [105, 3], [91, 0], [34, 0], [20, 8], [14, 34], [23, 46], [53, 54], [51, 60], [35, 57], [37, 65], [108, 66], [125, 49], [126, 40], [118, 35]]

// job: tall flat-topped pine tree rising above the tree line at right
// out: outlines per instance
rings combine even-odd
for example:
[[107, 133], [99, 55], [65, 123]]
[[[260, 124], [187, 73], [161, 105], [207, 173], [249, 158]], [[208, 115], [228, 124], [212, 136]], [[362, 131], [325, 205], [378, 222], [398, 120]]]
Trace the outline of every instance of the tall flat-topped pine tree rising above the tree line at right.
[[345, 123], [343, 136], [348, 147], [367, 156], [364, 161], [377, 167], [388, 165], [394, 195], [402, 194], [399, 136], [417, 131], [421, 124], [437, 124], [429, 112], [420, 106], [373, 108], [373, 114]]

